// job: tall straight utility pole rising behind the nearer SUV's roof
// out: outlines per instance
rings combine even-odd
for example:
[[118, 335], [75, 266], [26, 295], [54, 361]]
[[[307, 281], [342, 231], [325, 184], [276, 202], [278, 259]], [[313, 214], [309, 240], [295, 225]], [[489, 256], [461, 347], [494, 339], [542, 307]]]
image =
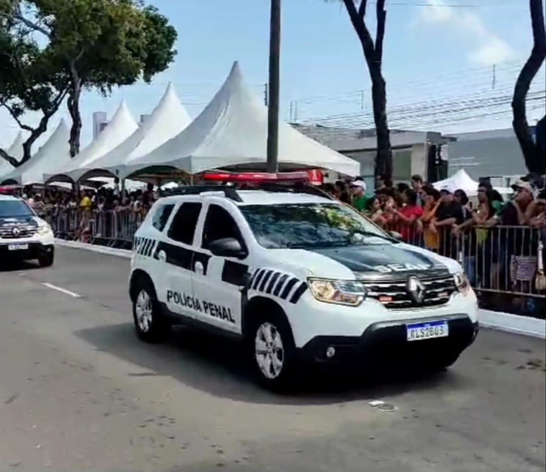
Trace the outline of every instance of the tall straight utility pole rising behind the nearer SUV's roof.
[[267, 170], [276, 173], [278, 172], [278, 109], [281, 85], [281, 0], [271, 0], [269, 28]]

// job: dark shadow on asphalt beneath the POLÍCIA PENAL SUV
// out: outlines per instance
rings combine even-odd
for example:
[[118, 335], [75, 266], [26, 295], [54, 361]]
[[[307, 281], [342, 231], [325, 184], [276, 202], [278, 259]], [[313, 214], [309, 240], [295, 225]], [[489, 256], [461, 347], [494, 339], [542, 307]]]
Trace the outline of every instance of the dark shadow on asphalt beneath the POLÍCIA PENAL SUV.
[[383, 375], [381, 379], [362, 379], [340, 373], [302, 373], [300, 388], [294, 396], [278, 396], [254, 383], [245, 367], [242, 346], [186, 329], [176, 329], [167, 343], [147, 345], [134, 334], [132, 324], [84, 329], [75, 333], [97, 350], [108, 352], [145, 371], [129, 373], [134, 377], [169, 376], [203, 392], [241, 402], [266, 404], [333, 404], [392, 397], [407, 391], [458, 390], [464, 380], [456, 373]]

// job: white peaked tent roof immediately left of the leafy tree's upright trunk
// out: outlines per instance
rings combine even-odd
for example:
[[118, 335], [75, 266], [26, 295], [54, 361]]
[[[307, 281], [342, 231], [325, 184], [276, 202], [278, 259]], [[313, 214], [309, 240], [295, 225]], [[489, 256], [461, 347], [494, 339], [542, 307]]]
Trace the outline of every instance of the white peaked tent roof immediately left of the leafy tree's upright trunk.
[[68, 125], [61, 120], [57, 129], [31, 160], [4, 175], [0, 180], [5, 183], [16, 182], [19, 185], [43, 184], [44, 174], [51, 173], [58, 167], [68, 166], [70, 163], [69, 138]]

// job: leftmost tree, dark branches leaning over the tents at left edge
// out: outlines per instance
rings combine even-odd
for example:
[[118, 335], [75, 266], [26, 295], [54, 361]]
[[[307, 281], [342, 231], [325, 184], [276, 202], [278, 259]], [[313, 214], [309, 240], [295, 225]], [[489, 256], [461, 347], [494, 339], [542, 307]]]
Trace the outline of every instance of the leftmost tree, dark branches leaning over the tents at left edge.
[[[33, 28], [7, 15], [10, 2], [0, 0], [0, 108], [8, 110], [29, 134], [20, 162], [1, 148], [0, 157], [19, 167], [31, 158], [33, 144], [47, 131], [49, 120], [68, 93], [69, 81], [59, 72], [50, 51], [39, 47]], [[41, 114], [37, 126], [23, 121], [28, 112]]]

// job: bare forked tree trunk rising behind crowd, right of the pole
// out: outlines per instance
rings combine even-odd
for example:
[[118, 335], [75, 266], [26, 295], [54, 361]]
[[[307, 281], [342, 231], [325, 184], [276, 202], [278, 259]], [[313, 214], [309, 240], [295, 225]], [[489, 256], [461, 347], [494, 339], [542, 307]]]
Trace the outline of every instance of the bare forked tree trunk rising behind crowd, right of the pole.
[[377, 136], [376, 176], [391, 179], [393, 176], [393, 150], [390, 145], [390, 131], [387, 120], [387, 84], [383, 77], [383, 43], [387, 9], [385, 0], [376, 0], [376, 37], [372, 39], [366, 24], [368, 0], [341, 0], [345, 5], [349, 19], [357, 33], [364, 52], [368, 72], [372, 82], [373, 121]]

